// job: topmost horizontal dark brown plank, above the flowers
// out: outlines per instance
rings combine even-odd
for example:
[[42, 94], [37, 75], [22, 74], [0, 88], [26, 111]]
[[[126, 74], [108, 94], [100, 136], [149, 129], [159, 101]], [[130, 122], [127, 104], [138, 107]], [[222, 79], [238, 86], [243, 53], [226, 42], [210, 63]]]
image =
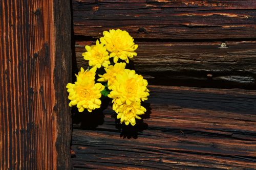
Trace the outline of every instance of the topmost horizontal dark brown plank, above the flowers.
[[256, 38], [255, 1], [73, 0], [74, 33], [100, 37], [126, 30], [134, 38]]

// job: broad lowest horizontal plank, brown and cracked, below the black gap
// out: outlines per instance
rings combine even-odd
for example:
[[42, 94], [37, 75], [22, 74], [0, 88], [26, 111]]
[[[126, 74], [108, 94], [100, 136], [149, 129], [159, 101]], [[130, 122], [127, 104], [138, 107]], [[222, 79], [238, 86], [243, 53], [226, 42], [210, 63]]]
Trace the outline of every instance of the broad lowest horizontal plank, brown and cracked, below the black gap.
[[110, 109], [74, 115], [74, 169], [256, 167], [256, 91], [149, 88], [134, 128], [115, 124]]

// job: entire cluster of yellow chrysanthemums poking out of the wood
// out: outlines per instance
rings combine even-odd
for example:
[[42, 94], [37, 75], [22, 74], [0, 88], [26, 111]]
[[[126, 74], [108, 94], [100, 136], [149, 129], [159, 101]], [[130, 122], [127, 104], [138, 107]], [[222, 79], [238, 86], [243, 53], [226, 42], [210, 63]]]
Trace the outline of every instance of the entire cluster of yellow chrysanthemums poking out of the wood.
[[[137, 48], [129, 33], [119, 29], [104, 31], [95, 45], [86, 45], [87, 52], [82, 56], [89, 61], [89, 68], [81, 67], [76, 82], [68, 83], [69, 106], [76, 106], [79, 112], [84, 109], [92, 112], [108, 97], [112, 99], [112, 108], [120, 123], [134, 126], [136, 118], [141, 119], [139, 115], [146, 111], [141, 101], [147, 100], [149, 95], [147, 81], [135, 70], [125, 68], [126, 63], [137, 56]], [[126, 63], [119, 63], [120, 60]]]

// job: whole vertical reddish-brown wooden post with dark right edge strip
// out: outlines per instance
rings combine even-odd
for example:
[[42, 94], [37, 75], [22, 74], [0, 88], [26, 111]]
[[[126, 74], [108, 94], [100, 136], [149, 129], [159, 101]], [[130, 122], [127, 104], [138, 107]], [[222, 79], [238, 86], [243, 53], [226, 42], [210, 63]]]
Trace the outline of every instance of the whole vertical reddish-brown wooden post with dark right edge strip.
[[68, 0], [0, 3], [0, 169], [71, 169], [70, 10]]

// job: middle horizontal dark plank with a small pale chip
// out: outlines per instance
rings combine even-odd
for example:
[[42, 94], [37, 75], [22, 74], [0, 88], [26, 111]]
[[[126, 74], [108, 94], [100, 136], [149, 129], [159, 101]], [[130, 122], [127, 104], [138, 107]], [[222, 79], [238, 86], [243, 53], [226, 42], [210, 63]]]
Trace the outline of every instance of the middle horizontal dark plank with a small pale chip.
[[[152, 84], [256, 87], [256, 41], [136, 43], [133, 68]], [[78, 68], [88, 66], [82, 53], [85, 45], [93, 44], [95, 41], [75, 42]]]

